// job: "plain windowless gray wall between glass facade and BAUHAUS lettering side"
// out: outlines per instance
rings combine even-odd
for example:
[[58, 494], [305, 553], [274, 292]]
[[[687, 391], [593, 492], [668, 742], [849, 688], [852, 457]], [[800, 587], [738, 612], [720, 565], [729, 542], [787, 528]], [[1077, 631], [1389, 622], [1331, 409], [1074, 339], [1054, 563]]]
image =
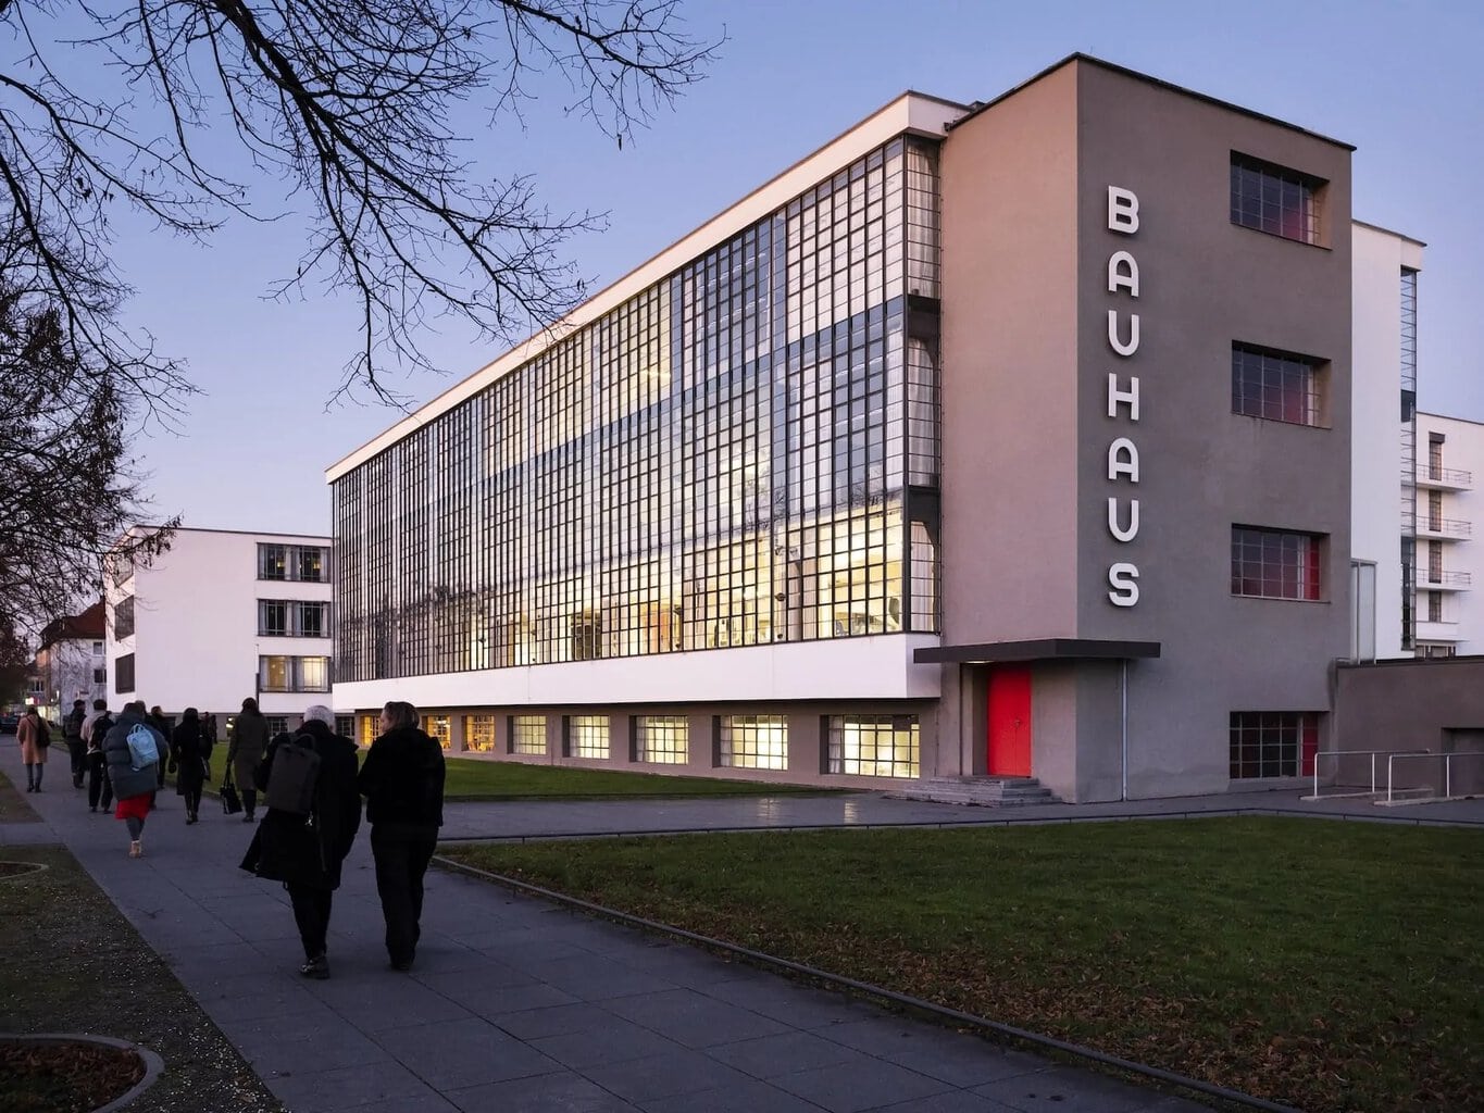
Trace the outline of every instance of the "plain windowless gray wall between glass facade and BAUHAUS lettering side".
[[1076, 625], [1076, 73], [942, 147], [942, 634]]

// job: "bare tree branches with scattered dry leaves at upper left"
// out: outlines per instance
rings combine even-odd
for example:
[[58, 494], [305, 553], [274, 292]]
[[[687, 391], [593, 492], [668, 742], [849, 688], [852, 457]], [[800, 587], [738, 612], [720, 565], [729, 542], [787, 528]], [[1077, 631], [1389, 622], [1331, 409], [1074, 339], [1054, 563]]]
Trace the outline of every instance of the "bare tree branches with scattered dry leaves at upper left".
[[[18, 344], [0, 389], [33, 399], [9, 375], [40, 370], [62, 377], [40, 396], [68, 399], [53, 416], [25, 411], [33, 424], [0, 442], [0, 509], [15, 512], [12, 490], [62, 500], [91, 484], [64, 509], [89, 537], [116, 528], [107, 516], [134, 497], [110, 470], [123, 442], [76, 442], [187, 405], [183, 365], [122, 326], [131, 288], [111, 251], [125, 211], [196, 239], [234, 218], [301, 220], [303, 255], [272, 292], [356, 300], [341, 389], [387, 398], [387, 368], [427, 367], [420, 332], [441, 315], [512, 340], [570, 309], [583, 283], [562, 243], [595, 218], [548, 211], [516, 169], [476, 178], [460, 153], [476, 137], [456, 135], [454, 119], [519, 117], [555, 79], [564, 107], [622, 144], [712, 56], [678, 4], [0, 0], [0, 294]], [[285, 186], [292, 214], [276, 211]], [[64, 559], [65, 534], [43, 537], [45, 515], [24, 521], [34, 543], [52, 542], [39, 561]], [[0, 600], [0, 619], [12, 605]]]

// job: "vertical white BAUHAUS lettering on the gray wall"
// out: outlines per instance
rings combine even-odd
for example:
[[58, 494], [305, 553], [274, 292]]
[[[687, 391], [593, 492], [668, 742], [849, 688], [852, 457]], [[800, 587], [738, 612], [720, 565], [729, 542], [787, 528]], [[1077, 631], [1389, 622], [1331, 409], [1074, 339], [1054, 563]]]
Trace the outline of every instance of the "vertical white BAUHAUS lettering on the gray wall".
[[[1138, 233], [1138, 197], [1119, 186], [1107, 187], [1107, 229], [1116, 236]], [[1117, 421], [1117, 435], [1107, 451], [1107, 524], [1119, 545], [1138, 537], [1138, 375], [1131, 361], [1138, 353], [1138, 260], [1116, 249], [1107, 266], [1107, 343], [1114, 370], [1107, 372], [1107, 416]], [[1132, 559], [1109, 564], [1109, 603], [1132, 607], [1138, 603], [1138, 565]]]

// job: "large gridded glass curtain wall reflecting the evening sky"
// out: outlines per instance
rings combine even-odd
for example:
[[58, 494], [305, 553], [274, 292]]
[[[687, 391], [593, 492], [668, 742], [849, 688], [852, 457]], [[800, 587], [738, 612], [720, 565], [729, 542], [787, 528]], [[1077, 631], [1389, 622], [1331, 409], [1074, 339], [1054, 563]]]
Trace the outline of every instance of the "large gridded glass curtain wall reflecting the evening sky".
[[938, 197], [896, 139], [340, 476], [337, 677], [936, 632]]

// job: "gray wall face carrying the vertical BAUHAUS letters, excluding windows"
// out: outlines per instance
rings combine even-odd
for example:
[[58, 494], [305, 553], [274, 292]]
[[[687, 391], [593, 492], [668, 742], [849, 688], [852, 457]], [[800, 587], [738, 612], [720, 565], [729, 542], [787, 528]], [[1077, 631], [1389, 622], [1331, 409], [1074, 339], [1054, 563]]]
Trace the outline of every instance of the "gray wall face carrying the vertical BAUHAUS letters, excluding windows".
[[[1076, 632], [1163, 647], [1129, 671], [1131, 795], [1224, 791], [1229, 714], [1325, 711], [1330, 663], [1349, 644], [1350, 154], [1098, 65], [1076, 70]], [[1328, 181], [1319, 246], [1230, 223], [1232, 151]], [[1138, 196], [1134, 234], [1107, 229], [1109, 186]], [[1120, 249], [1138, 263], [1137, 298], [1107, 291]], [[1140, 316], [1129, 356], [1110, 347], [1110, 309], [1123, 341]], [[1233, 341], [1328, 359], [1328, 427], [1233, 414]], [[1126, 407], [1107, 416], [1110, 371], [1123, 387], [1140, 378], [1137, 421]], [[1107, 478], [1116, 438], [1138, 450], [1137, 484]], [[1110, 534], [1109, 496], [1140, 500], [1126, 543]], [[1325, 534], [1322, 600], [1233, 597], [1233, 524]], [[1109, 601], [1114, 562], [1138, 567], [1135, 605]], [[1079, 749], [1104, 749], [1107, 727], [1103, 714], [1079, 717]], [[1076, 798], [1107, 798], [1107, 778], [1079, 769]]]

